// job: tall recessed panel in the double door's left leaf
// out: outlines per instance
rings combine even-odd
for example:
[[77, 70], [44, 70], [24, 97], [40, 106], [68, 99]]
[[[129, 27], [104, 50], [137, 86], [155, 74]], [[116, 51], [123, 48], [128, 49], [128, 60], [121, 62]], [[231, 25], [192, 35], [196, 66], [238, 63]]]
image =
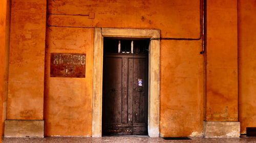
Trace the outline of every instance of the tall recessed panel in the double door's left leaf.
[[[105, 123], [121, 123], [121, 101], [122, 101], [122, 59], [104, 59], [103, 80], [103, 119]], [[108, 67], [108, 68], [106, 68]], [[111, 82], [109, 82], [111, 81]], [[111, 115], [111, 116], [109, 116]]]

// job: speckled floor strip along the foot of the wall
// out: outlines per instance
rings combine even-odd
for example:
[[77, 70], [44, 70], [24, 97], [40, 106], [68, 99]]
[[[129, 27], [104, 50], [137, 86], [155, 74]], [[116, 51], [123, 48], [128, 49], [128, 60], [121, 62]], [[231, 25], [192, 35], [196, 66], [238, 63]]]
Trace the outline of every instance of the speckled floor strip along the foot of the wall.
[[255, 142], [256, 137], [241, 137], [241, 138], [200, 138], [191, 137], [191, 140], [164, 140], [163, 138], [150, 138], [144, 136], [137, 137], [46, 137], [46, 138], [3, 138], [3, 143], [88, 143], [88, 142], [125, 142], [125, 143], [136, 143], [136, 142], [202, 142], [202, 143], [245, 143]]

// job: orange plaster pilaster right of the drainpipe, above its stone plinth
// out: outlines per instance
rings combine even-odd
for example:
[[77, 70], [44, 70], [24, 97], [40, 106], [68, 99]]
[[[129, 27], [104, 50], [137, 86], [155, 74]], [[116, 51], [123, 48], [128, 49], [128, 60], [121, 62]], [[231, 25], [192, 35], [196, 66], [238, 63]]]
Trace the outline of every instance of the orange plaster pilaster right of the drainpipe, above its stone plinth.
[[237, 1], [207, 1], [206, 120], [238, 121]]

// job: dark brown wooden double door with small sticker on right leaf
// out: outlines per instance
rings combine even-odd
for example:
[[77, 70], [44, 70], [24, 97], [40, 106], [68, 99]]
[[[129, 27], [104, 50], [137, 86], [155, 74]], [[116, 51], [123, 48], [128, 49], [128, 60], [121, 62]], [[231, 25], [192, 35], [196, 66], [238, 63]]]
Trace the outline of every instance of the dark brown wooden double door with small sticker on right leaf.
[[147, 54], [104, 54], [103, 135], [147, 134]]

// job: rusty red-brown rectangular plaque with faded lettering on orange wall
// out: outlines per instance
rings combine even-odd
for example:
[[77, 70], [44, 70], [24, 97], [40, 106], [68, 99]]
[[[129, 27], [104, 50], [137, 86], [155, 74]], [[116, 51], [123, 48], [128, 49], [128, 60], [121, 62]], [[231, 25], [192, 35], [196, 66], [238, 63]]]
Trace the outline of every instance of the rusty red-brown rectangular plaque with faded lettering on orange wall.
[[51, 77], [86, 77], [86, 54], [51, 53]]

